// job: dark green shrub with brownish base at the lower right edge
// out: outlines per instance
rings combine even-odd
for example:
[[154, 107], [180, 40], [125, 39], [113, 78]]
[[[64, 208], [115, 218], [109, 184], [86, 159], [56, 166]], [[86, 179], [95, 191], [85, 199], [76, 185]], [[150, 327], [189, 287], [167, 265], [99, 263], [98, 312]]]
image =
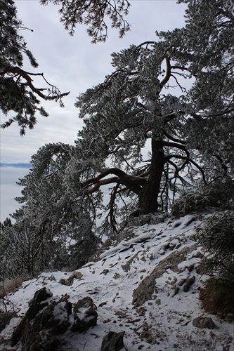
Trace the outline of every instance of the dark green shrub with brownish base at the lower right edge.
[[234, 211], [209, 216], [195, 240], [207, 251], [201, 265], [211, 277], [200, 293], [204, 309], [221, 317], [234, 314]]

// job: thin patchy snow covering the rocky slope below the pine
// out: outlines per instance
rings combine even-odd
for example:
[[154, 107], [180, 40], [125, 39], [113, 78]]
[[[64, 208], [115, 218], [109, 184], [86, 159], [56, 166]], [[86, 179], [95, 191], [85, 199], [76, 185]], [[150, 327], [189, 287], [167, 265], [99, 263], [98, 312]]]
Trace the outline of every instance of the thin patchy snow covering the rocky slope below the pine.
[[[43, 272], [8, 295], [8, 310], [14, 309], [22, 317], [35, 291], [46, 286], [53, 293], [48, 300], [58, 300], [67, 294], [75, 304], [90, 296], [98, 307], [97, 326], [85, 333], [67, 331], [61, 336], [67, 350], [98, 351], [103, 336], [109, 331], [125, 331], [124, 345], [128, 351], [233, 351], [233, 324], [201, 309], [199, 291], [207, 277], [196, 272], [202, 248], [197, 247], [192, 238], [199, 224], [198, 216], [188, 215], [179, 220], [167, 218], [157, 225], [129, 227], [127, 230], [134, 235], [115, 242], [96, 262], [79, 268], [83, 276], [74, 279], [72, 285], [59, 283], [70, 273]], [[173, 263], [173, 253], [184, 253], [184, 259]], [[153, 282], [150, 299], [134, 305], [134, 291], [140, 289], [140, 294], [144, 295], [141, 287], [147, 286], [150, 277]], [[145, 291], [145, 295], [147, 293], [149, 291]], [[65, 317], [61, 306], [54, 314], [58, 319]], [[200, 316], [212, 317], [218, 328], [209, 330], [193, 326], [193, 319]], [[0, 340], [11, 337], [17, 321], [20, 322], [20, 318], [11, 320], [1, 332]], [[4, 350], [20, 350], [20, 346], [17, 349], [5, 347]]]

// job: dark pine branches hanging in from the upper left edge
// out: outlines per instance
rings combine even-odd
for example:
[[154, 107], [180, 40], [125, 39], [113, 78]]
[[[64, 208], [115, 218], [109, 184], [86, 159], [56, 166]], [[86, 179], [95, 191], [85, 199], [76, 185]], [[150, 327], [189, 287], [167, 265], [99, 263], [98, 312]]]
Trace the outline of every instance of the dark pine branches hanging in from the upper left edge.
[[[16, 121], [20, 126], [20, 135], [25, 134], [26, 128], [34, 128], [37, 112], [48, 116], [44, 107], [40, 106], [39, 98], [56, 100], [63, 106], [61, 98], [67, 95], [48, 84], [43, 73], [30, 73], [23, 69], [24, 55], [33, 68], [38, 67], [25, 39], [19, 34], [23, 29], [26, 28], [18, 20], [14, 1], [0, 0], [0, 109], [6, 115], [9, 112], [14, 114], [1, 127], [6, 128]], [[34, 76], [43, 79], [44, 88], [34, 86]], [[48, 91], [48, 95], [44, 94], [44, 90]]]

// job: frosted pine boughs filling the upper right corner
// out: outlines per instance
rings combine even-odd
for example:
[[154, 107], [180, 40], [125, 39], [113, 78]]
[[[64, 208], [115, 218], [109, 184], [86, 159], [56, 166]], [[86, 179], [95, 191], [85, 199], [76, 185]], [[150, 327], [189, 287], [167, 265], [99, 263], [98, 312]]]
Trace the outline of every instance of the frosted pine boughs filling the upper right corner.
[[222, 176], [234, 168], [233, 1], [178, 2], [188, 4], [186, 27], [162, 32], [160, 37], [167, 41], [167, 52], [176, 64], [195, 77], [189, 92], [194, 114], [183, 133], [205, 157], [207, 166], [210, 160], [219, 160]]

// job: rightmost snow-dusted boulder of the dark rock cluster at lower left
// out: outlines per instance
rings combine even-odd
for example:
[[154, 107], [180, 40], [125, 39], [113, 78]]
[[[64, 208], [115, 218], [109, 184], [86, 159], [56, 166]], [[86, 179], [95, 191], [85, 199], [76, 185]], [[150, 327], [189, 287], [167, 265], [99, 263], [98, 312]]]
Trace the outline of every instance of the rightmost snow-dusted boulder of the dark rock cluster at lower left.
[[74, 305], [74, 324], [71, 330], [82, 333], [91, 326], [96, 326], [98, 319], [96, 309], [96, 305], [94, 305], [93, 300], [89, 296], [79, 300]]

